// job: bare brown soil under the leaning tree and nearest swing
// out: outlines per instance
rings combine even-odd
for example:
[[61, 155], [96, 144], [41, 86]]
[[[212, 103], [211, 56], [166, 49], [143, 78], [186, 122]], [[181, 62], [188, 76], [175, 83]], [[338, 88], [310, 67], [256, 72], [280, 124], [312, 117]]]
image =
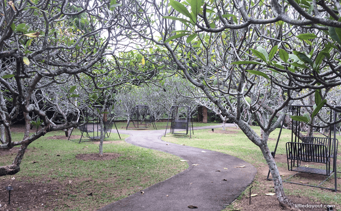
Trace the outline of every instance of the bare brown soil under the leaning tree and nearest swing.
[[[287, 163], [287, 156], [286, 155], [276, 155], [275, 156], [276, 163]], [[316, 165], [317, 163], [314, 163]], [[301, 163], [301, 165], [306, 165], [305, 163]], [[307, 163], [307, 165], [310, 165]], [[267, 193], [274, 193], [273, 188], [273, 182], [272, 180], [267, 180], [267, 175], [269, 168], [268, 166], [264, 165], [262, 167], [257, 168], [258, 173], [257, 176], [253, 182], [253, 188], [251, 189], [251, 194], [258, 194], [257, 196], [251, 197], [251, 204], [249, 204], [249, 189], [245, 190], [247, 194], [242, 197], [241, 200], [237, 200], [233, 204], [235, 205], [235, 208], [237, 210], [243, 210], [243, 211], [258, 211], [258, 210], [271, 210], [271, 211], [282, 211], [283, 209], [279, 205], [276, 195], [274, 196], [268, 196], [265, 195]], [[279, 173], [282, 177], [282, 179], [288, 178], [289, 176], [297, 173], [295, 171], [289, 171], [287, 167], [278, 167]], [[271, 173], [269, 178], [272, 178]], [[326, 176], [318, 175], [318, 174], [309, 174], [309, 173], [298, 173], [295, 176], [292, 177], [291, 182], [295, 183], [302, 183], [302, 184], [308, 184], [308, 185], [316, 185], [322, 182]], [[327, 188], [334, 188], [334, 177], [331, 177], [331, 182], [324, 183], [324, 187]], [[341, 178], [337, 178], [337, 183], [341, 183]], [[318, 190], [322, 192], [328, 192], [333, 193], [330, 190], [324, 190], [319, 188], [313, 188], [308, 186], [302, 186], [302, 185], [296, 185], [296, 184], [290, 184], [290, 183], [283, 183], [283, 186], [285, 189], [290, 190]], [[341, 191], [337, 191], [337, 193], [334, 193], [335, 196], [340, 194]], [[290, 195], [288, 198], [294, 203], [297, 204], [297, 208], [304, 211], [324, 211], [327, 208], [324, 207], [323, 204], [317, 201], [317, 199], [309, 199], [308, 197], [299, 196], [299, 195]], [[300, 205], [310, 205], [310, 207], [299, 207]], [[312, 205], [316, 205], [316, 207], [311, 208]], [[336, 208], [334, 210], [339, 210], [341, 208], [340, 204], [331, 204], [336, 205]], [[322, 206], [322, 207], [321, 207]]]

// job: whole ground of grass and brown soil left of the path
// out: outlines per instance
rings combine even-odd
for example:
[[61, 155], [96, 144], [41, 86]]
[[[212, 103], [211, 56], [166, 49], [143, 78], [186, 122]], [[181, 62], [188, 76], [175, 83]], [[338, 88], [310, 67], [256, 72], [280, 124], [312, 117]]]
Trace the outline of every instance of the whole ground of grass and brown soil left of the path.
[[[19, 131], [16, 128], [16, 131]], [[20, 139], [23, 132], [13, 132]], [[176, 156], [133, 146], [128, 135], [111, 133], [99, 142], [81, 142], [79, 130], [68, 141], [62, 131], [30, 144], [21, 170], [0, 178], [0, 210], [94, 210], [165, 180], [188, 165]], [[2, 150], [0, 165], [12, 162], [19, 147]], [[4, 187], [12, 185], [11, 203]]]

